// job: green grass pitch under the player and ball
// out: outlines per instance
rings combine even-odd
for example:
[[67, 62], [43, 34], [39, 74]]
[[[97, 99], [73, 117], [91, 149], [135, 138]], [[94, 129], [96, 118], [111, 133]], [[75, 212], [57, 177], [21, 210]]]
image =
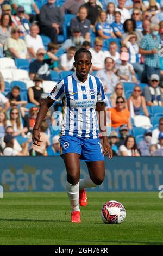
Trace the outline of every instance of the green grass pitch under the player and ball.
[[[4, 193], [0, 245], [163, 245], [163, 199], [157, 192], [88, 192], [82, 223], [70, 222], [65, 192]], [[127, 211], [119, 225], [99, 217], [108, 200]]]

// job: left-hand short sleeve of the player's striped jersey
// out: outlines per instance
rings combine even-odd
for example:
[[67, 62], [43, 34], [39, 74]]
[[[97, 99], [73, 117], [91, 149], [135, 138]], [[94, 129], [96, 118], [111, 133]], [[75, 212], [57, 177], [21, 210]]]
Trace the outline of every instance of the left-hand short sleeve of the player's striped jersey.
[[52, 100], [59, 102], [62, 100], [64, 95], [65, 95], [64, 83], [62, 82], [62, 80], [59, 80], [59, 82], [56, 84], [56, 86], [54, 86], [52, 92], [49, 93], [48, 96], [51, 97]]

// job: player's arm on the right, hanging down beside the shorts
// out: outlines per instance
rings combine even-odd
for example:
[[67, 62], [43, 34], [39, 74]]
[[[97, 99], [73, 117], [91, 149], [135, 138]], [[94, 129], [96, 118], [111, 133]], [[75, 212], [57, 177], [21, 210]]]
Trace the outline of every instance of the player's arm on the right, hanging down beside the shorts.
[[108, 142], [108, 136], [106, 131], [106, 112], [105, 112], [105, 103], [104, 102], [97, 102], [96, 103], [96, 111], [98, 112], [98, 124], [99, 130], [102, 133], [103, 138], [103, 149], [104, 149], [104, 156], [109, 154], [109, 158], [112, 159], [112, 149]]

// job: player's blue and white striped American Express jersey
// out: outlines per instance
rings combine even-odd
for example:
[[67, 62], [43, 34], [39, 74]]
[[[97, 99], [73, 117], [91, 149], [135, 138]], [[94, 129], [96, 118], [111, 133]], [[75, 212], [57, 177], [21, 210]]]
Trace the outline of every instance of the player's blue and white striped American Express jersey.
[[55, 101], [65, 97], [61, 135], [98, 138], [96, 103], [105, 100], [104, 86], [99, 78], [88, 75], [82, 83], [74, 72], [60, 80], [49, 97]]

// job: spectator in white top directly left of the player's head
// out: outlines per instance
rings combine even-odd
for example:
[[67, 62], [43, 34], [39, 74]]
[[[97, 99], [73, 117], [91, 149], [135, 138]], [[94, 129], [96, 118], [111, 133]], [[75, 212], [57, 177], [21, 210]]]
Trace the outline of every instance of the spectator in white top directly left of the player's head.
[[76, 47], [71, 46], [68, 50], [67, 53], [64, 53], [60, 56], [59, 63], [60, 63], [60, 68], [65, 71], [70, 71], [74, 70], [74, 54], [76, 53]]

